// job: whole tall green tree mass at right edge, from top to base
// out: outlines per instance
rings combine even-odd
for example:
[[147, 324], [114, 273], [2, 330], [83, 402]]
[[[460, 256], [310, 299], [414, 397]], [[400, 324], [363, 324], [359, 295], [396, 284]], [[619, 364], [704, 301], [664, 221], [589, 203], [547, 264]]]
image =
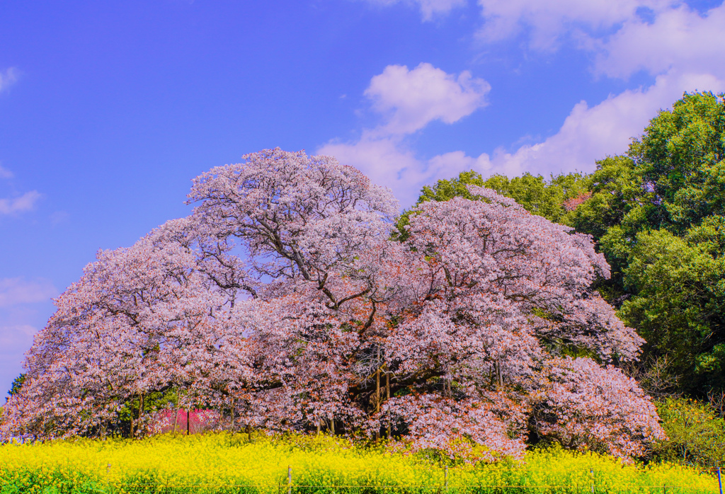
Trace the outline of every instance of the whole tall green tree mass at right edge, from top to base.
[[666, 357], [681, 391], [725, 385], [725, 104], [685, 94], [627, 156], [597, 162], [592, 197], [568, 217], [612, 267], [600, 291]]

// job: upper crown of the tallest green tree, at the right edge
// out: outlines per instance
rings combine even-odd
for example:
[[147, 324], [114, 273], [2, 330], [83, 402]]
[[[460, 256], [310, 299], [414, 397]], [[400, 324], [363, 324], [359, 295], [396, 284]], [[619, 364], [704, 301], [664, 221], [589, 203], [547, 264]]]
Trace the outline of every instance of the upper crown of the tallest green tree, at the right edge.
[[725, 214], [725, 104], [712, 93], [685, 94], [650, 121], [627, 156], [597, 162], [592, 197], [568, 218], [602, 244], [613, 269], [629, 264], [637, 233], [682, 236]]

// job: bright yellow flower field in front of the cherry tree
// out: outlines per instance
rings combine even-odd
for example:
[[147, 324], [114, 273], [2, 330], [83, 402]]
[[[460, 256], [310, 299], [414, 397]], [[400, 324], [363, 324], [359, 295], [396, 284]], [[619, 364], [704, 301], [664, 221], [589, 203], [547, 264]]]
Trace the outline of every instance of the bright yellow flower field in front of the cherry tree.
[[228, 434], [3, 445], [0, 485], [1, 494], [718, 493], [712, 474], [559, 448], [445, 467], [326, 436]]

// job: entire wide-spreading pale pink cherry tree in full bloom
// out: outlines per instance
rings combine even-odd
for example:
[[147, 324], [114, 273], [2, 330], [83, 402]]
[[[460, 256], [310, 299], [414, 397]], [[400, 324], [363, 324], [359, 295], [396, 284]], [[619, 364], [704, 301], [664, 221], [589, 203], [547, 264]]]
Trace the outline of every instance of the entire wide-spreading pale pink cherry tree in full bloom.
[[418, 206], [401, 242], [390, 191], [333, 158], [276, 148], [204, 173], [189, 217], [99, 252], [57, 299], [2, 432], [101, 435], [130, 407], [143, 435], [144, 400], [176, 393], [228, 427], [473, 461], [517, 456], [530, 432], [642, 453], [662, 432], [603, 367], [642, 344], [590, 288], [608, 264], [586, 235], [471, 193]]

